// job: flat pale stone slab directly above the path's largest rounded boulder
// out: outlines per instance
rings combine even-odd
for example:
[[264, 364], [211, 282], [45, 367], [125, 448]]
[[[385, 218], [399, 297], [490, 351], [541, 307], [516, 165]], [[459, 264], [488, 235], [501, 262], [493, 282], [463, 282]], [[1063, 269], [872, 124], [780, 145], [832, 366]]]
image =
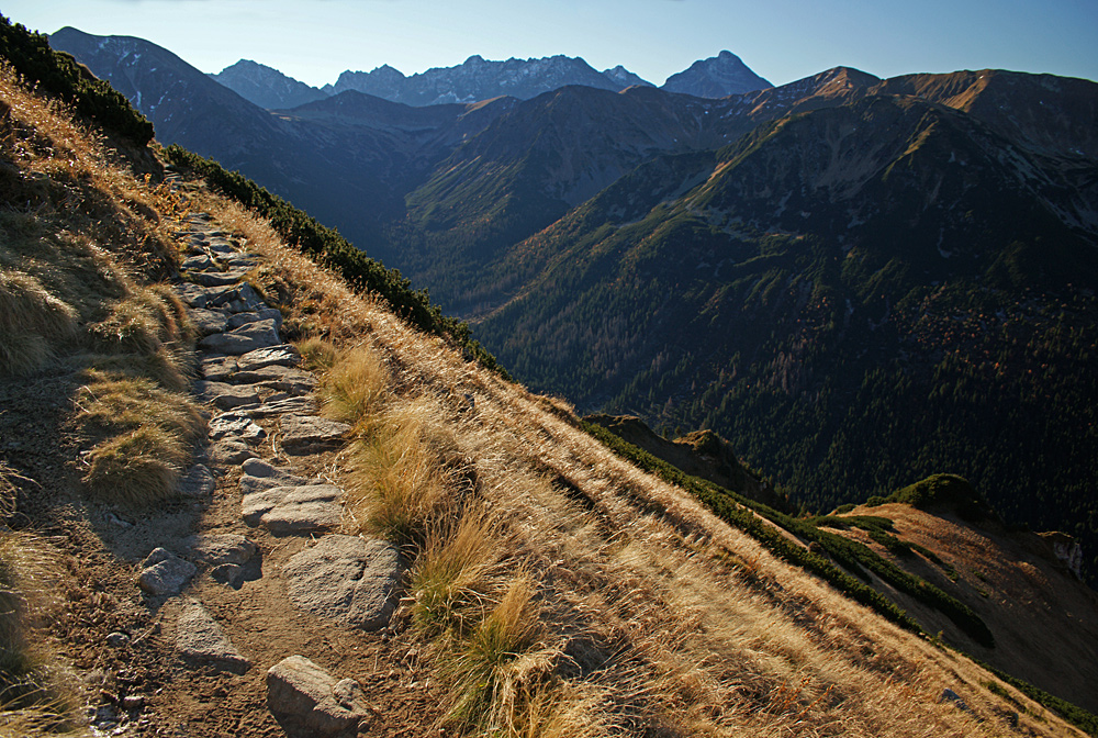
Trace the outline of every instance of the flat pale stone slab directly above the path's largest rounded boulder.
[[272, 487], [245, 494], [240, 516], [274, 535], [330, 530], [343, 519], [341, 499], [343, 490], [334, 484]]

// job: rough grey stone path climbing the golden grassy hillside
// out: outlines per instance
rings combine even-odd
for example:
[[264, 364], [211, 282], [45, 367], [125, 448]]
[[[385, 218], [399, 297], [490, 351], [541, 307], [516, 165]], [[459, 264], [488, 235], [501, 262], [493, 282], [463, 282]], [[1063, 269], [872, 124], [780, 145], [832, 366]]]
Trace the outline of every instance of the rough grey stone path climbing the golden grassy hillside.
[[[194, 391], [212, 416], [209, 458], [186, 471], [179, 493], [210, 502], [216, 480], [232, 479], [239, 468], [229, 494], [239, 500], [240, 533], [163, 541], [142, 563], [137, 582], [145, 596], [167, 602], [205, 577], [238, 590], [276, 577], [302, 612], [344, 627], [382, 628], [395, 610], [405, 569], [399, 551], [380, 539], [339, 535], [344, 491], [272, 463], [338, 449], [350, 426], [317, 415], [317, 380], [300, 367], [298, 350], [283, 343], [281, 313], [243, 281], [258, 258], [208, 214], [187, 225], [176, 234], [187, 245], [183, 281], [176, 290], [200, 331], [201, 379]], [[259, 532], [309, 540], [287, 566], [268, 573]], [[184, 663], [234, 673], [256, 663], [237, 650], [205, 603], [188, 596], [178, 613], [175, 644]], [[224, 618], [228, 623], [232, 615]], [[325, 674], [301, 656], [285, 657], [262, 666], [270, 669], [268, 705], [287, 733], [354, 735], [361, 714], [351, 705], [358, 684]]]

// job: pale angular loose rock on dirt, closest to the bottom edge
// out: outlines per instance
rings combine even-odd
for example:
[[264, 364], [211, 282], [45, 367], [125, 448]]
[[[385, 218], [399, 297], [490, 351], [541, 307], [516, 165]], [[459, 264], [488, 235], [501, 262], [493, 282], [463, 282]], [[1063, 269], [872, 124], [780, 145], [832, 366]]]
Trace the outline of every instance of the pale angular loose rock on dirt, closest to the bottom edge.
[[289, 738], [354, 738], [369, 715], [358, 682], [337, 681], [302, 656], [267, 671], [267, 707]]

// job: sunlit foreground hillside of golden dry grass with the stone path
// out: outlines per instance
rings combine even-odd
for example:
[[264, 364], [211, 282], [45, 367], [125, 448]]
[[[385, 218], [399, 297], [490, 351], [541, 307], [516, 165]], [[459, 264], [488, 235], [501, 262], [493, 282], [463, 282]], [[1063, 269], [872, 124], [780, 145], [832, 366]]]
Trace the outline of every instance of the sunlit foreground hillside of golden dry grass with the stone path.
[[1080, 735], [284, 203], [0, 99], [0, 733]]

